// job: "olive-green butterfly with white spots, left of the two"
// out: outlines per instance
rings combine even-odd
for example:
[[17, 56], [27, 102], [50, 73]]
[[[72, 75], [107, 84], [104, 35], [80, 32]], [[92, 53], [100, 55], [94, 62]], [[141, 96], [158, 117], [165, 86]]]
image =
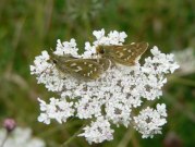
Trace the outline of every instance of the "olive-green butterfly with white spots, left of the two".
[[50, 60], [56, 68], [64, 74], [70, 74], [77, 79], [97, 79], [111, 64], [109, 59], [80, 59], [72, 56], [50, 54]]

